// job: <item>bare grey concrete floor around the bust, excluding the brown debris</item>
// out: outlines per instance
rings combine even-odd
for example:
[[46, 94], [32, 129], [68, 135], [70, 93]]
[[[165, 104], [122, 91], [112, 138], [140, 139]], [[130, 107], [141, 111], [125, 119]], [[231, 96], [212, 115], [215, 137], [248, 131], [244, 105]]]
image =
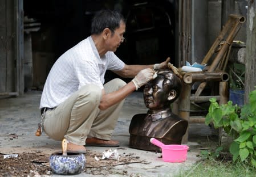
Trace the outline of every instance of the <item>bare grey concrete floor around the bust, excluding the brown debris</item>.
[[[22, 151], [42, 150], [47, 154], [60, 151], [59, 141], [51, 140], [42, 134], [35, 136], [37, 124], [40, 120], [39, 102], [41, 91], [29, 91], [17, 98], [0, 98], [0, 153], [19, 153]], [[207, 141], [212, 130], [204, 124], [191, 124], [189, 127], [188, 158], [183, 163], [169, 163], [162, 161], [160, 153], [132, 149], [129, 144], [129, 123], [133, 115], [146, 113], [142, 92], [133, 92], [125, 100], [119, 121], [113, 134], [114, 140], [120, 141], [119, 154], [132, 153], [147, 163], [128, 163], [114, 166], [111, 174], [93, 175], [86, 172], [76, 176], [174, 176], [180, 171], [188, 170], [199, 158], [200, 149], [205, 148], [201, 142]], [[13, 135], [16, 138], [11, 138]], [[107, 147], [87, 147], [90, 151], [102, 153]], [[114, 149], [114, 148], [113, 148]], [[113, 150], [112, 149], [112, 150]], [[121, 171], [127, 171], [122, 175]], [[101, 169], [102, 170], [102, 169]], [[118, 175], [117, 175], [118, 174]], [[59, 175], [52, 175], [59, 176]]]

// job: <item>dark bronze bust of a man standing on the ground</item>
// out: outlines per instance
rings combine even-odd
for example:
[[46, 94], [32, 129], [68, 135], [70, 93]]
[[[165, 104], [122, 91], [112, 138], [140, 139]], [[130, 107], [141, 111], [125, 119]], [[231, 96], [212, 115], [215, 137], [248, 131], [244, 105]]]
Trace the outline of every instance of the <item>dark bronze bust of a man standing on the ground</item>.
[[129, 126], [129, 146], [136, 149], [161, 151], [150, 142], [154, 137], [166, 145], [181, 144], [188, 128], [188, 121], [175, 115], [170, 108], [180, 95], [182, 83], [170, 70], [157, 70], [157, 77], [149, 81], [143, 90], [147, 113], [132, 117]]

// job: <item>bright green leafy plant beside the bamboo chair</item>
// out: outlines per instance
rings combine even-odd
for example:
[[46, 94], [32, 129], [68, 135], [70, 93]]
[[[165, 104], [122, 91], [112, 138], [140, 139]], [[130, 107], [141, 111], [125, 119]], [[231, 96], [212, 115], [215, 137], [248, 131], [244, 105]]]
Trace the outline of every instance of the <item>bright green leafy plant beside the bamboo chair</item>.
[[238, 107], [231, 101], [219, 105], [211, 98], [205, 124], [213, 123], [214, 128], [223, 128], [233, 138], [229, 151], [234, 162], [240, 159], [256, 167], [256, 90], [250, 92], [249, 99], [249, 104]]

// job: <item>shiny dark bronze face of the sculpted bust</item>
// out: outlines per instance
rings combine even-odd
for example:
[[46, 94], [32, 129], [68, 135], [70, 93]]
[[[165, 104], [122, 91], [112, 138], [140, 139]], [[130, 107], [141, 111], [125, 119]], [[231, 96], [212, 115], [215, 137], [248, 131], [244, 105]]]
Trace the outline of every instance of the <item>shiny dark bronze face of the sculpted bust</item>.
[[169, 90], [163, 90], [163, 77], [157, 77], [149, 81], [143, 90], [145, 106], [151, 110], [159, 110], [169, 107], [168, 94]]

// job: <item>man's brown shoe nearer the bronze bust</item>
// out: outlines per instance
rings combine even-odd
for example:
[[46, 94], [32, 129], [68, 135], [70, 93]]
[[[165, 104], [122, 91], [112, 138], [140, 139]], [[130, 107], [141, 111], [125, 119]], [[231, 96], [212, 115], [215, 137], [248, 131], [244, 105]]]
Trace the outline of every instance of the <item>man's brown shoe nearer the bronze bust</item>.
[[87, 138], [86, 146], [100, 146], [100, 147], [118, 147], [119, 141], [115, 140], [101, 140], [99, 138]]

